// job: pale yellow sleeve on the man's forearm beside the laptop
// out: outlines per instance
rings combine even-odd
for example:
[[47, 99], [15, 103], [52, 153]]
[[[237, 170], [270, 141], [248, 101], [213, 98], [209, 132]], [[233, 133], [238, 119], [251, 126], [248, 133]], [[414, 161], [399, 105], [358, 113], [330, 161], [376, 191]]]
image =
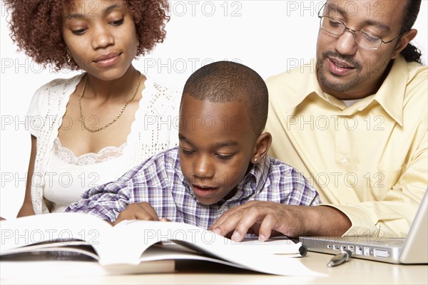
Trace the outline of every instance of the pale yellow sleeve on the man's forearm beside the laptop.
[[[333, 205], [347, 215], [352, 227], [347, 235], [406, 237], [428, 185], [427, 133], [417, 147], [417, 155], [409, 162], [392, 190], [381, 201], [356, 205]], [[371, 227], [369, 225], [372, 225]]]

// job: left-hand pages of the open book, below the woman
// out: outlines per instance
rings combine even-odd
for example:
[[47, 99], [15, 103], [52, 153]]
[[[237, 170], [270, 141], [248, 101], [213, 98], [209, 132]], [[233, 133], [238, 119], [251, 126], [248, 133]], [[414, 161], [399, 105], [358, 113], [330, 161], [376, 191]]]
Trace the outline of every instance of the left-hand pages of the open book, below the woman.
[[[2, 221], [0, 255], [14, 252], [87, 252], [96, 257], [113, 227], [103, 219], [82, 213], [39, 214]], [[90, 245], [94, 251], [79, 245]], [[105, 251], [105, 250], [104, 250]], [[98, 259], [98, 257], [96, 257]]]

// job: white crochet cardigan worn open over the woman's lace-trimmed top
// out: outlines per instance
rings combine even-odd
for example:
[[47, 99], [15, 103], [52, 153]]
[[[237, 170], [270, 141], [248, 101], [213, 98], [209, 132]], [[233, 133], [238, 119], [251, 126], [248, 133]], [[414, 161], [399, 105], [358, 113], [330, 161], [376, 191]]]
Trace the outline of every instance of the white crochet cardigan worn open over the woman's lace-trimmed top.
[[[54, 151], [54, 141], [58, 137], [66, 105], [82, 77], [83, 74], [51, 81], [36, 90], [31, 101], [29, 130], [37, 138], [34, 175], [31, 179], [31, 199], [36, 214], [49, 213], [43, 193], [46, 167]], [[158, 152], [178, 145], [180, 93], [160, 86], [151, 78], [147, 78], [144, 85], [136, 119], [121, 151], [128, 169]]]

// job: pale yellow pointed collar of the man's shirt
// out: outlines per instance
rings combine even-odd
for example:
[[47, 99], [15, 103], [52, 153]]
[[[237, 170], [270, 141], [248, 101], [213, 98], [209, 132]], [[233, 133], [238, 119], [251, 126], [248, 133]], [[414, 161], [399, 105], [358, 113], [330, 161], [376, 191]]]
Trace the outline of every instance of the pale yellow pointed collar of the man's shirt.
[[[322, 92], [320, 83], [318, 83], [316, 66], [316, 59], [312, 59], [310, 68], [303, 68], [303, 72], [306, 73], [307, 76], [302, 76], [302, 78], [305, 78], [305, 82], [296, 82], [296, 84], [299, 84], [299, 86], [302, 87], [297, 88], [297, 94], [291, 98], [289, 105], [290, 110], [296, 108], [297, 105], [302, 103], [302, 101], [310, 95], [317, 95], [332, 105], [346, 108], [345, 104], [340, 100], [332, 95], [327, 95]], [[384, 79], [382, 86], [380, 86], [376, 94], [363, 98], [362, 103], [358, 105], [364, 107], [360, 107], [358, 110], [364, 109], [365, 106], [375, 100], [382, 106], [385, 112], [391, 116], [391, 118], [393, 118], [399, 125], [402, 125], [404, 91], [407, 86], [408, 73], [407, 63], [404, 58], [402, 56], [395, 58], [392, 63], [392, 68], [389, 71], [387, 78]]]

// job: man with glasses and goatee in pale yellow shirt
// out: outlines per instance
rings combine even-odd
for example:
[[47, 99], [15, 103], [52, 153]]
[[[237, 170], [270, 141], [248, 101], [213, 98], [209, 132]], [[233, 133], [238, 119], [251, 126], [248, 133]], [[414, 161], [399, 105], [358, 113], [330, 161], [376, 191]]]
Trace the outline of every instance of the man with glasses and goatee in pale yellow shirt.
[[266, 125], [270, 154], [302, 171], [325, 204], [281, 214], [243, 205], [216, 232], [257, 232], [253, 222], [269, 216], [290, 236], [407, 235], [428, 185], [427, 67], [409, 43], [420, 4], [327, 1], [316, 61], [267, 80]]

